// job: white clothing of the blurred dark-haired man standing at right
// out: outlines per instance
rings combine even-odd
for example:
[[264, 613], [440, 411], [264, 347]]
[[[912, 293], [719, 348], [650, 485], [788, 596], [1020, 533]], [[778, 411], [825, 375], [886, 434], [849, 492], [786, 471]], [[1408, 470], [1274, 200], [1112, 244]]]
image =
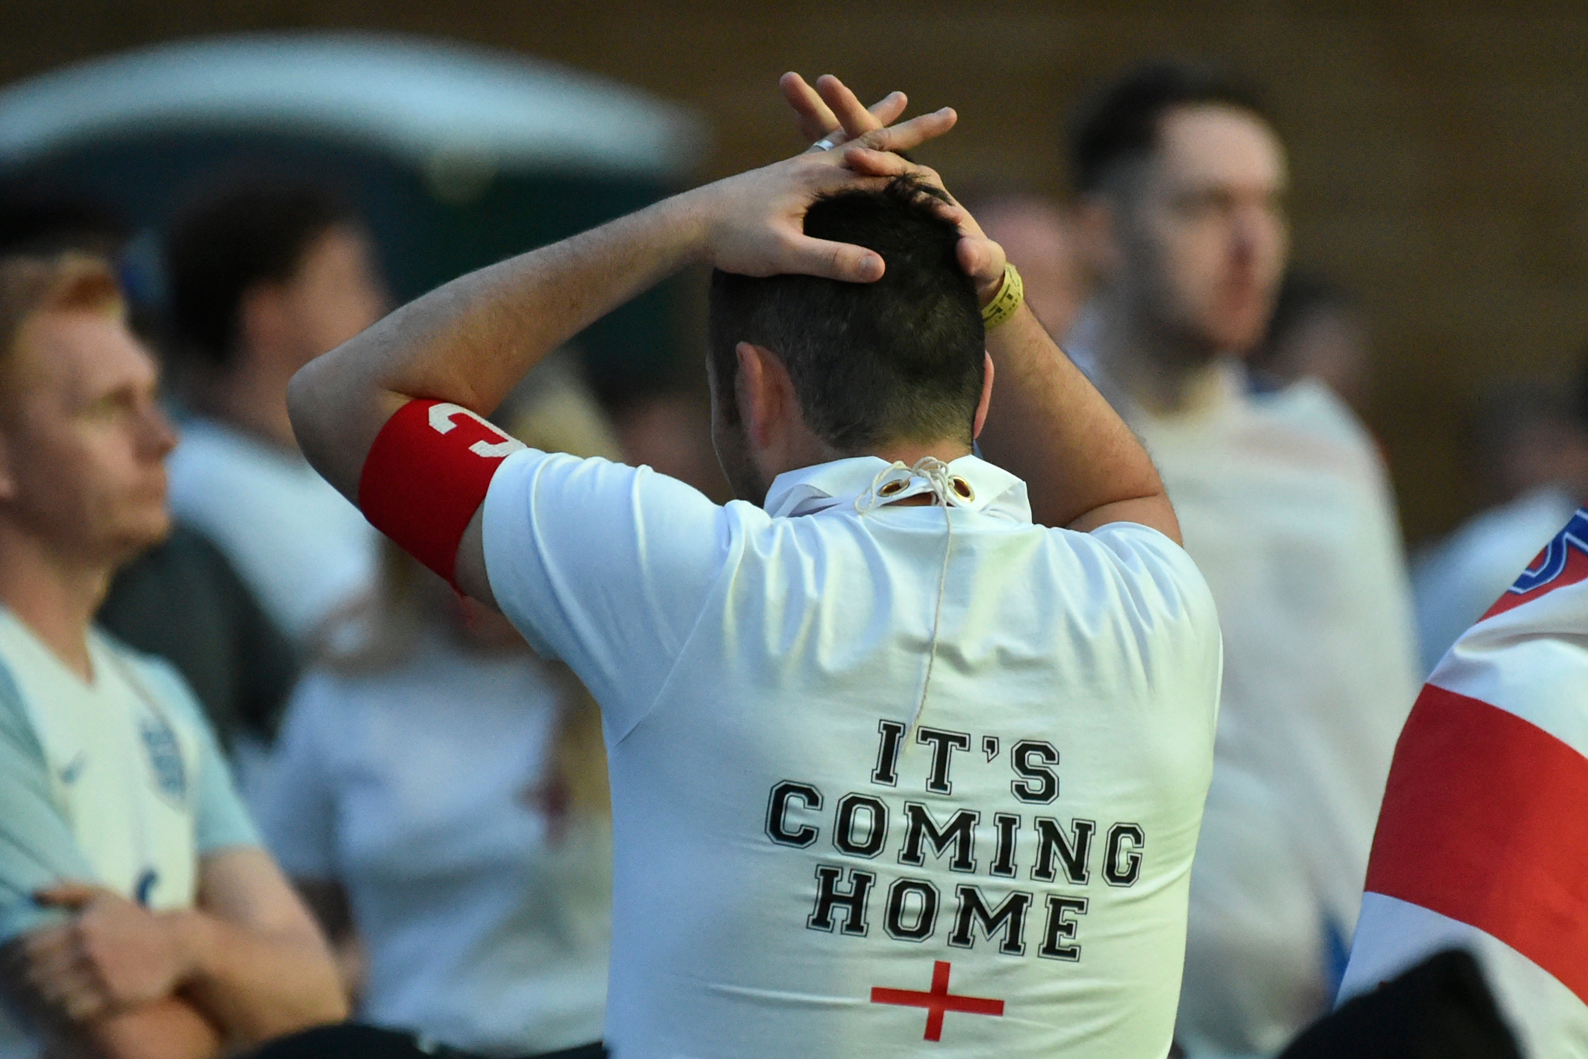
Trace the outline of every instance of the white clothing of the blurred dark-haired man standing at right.
[[1328, 1011], [1345, 970], [1416, 697], [1401, 533], [1372, 440], [1318, 383], [1258, 397], [1221, 362], [1183, 413], [1126, 418], [1224, 632], [1180, 1043], [1272, 1054]]

